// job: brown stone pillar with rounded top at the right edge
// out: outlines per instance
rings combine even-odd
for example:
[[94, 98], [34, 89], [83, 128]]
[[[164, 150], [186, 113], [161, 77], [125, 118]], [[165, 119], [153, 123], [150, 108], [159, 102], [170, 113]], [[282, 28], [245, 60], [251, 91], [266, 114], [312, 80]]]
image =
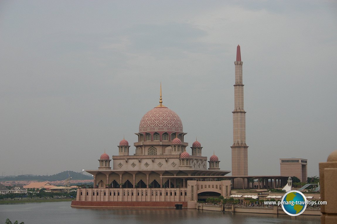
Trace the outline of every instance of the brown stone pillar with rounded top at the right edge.
[[333, 151], [326, 163], [319, 163], [320, 200], [326, 205], [320, 206], [322, 224], [337, 223], [337, 150]]

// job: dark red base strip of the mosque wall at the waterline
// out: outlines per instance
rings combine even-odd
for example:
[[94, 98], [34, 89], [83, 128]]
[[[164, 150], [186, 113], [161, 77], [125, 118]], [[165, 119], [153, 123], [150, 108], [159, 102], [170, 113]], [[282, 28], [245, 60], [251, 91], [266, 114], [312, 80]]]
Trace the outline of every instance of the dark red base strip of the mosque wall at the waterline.
[[71, 201], [71, 207], [78, 208], [175, 208], [176, 204], [187, 208], [186, 201]]

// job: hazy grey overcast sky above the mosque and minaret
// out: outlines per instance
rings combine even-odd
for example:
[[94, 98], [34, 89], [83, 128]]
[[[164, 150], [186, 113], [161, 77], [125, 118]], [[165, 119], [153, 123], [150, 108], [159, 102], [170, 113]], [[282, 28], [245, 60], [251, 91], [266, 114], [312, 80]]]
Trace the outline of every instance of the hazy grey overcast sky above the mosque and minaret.
[[[0, 2], [0, 175], [96, 169], [159, 103], [231, 170], [241, 46], [248, 174], [337, 149], [336, 1]], [[190, 149], [189, 149], [190, 151]]]

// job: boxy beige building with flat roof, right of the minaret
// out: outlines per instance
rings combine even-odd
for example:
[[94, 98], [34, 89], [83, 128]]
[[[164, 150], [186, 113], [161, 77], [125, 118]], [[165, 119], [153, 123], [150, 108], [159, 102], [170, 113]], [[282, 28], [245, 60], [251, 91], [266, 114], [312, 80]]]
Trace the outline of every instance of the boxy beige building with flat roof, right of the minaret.
[[308, 160], [306, 159], [280, 159], [281, 176], [296, 176], [301, 182], [306, 182]]

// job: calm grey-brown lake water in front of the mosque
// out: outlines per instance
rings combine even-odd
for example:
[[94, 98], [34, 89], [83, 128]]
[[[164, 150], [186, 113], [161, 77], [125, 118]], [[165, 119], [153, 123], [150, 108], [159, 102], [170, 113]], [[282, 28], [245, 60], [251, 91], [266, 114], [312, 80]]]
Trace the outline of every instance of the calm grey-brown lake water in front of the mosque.
[[251, 213], [222, 213], [199, 211], [196, 209], [92, 209], [72, 208], [70, 201], [0, 204], [0, 223], [6, 218], [14, 223], [18, 220], [25, 224], [53, 223], [320, 223], [319, 216], [291, 217], [288, 215], [269, 215]]

